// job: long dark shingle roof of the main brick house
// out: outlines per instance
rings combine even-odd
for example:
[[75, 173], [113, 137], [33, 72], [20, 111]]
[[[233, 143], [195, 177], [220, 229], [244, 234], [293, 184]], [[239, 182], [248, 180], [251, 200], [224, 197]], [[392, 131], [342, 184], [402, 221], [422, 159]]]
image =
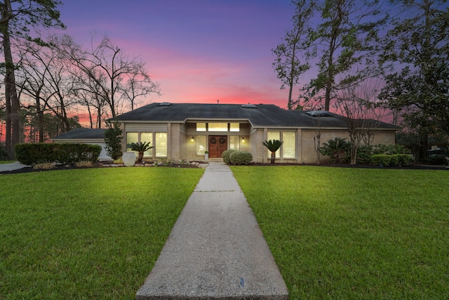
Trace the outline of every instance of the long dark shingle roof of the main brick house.
[[[315, 115], [315, 116], [314, 116]], [[321, 115], [321, 114], [318, 114]], [[255, 127], [340, 127], [346, 123], [344, 117], [330, 113], [330, 117], [318, 117], [301, 110], [283, 110], [276, 105], [198, 104], [198, 103], [152, 103], [111, 120], [121, 122], [173, 122], [188, 120], [248, 120]], [[380, 122], [377, 128], [401, 129]]]

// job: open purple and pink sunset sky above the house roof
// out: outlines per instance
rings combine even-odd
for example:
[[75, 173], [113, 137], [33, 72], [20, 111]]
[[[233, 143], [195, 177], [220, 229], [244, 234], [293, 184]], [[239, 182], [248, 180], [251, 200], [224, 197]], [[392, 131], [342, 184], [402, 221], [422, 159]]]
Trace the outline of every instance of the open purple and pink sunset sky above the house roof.
[[104, 35], [146, 63], [161, 96], [146, 103], [286, 107], [272, 48], [291, 27], [290, 0], [66, 0], [64, 33], [83, 46]]

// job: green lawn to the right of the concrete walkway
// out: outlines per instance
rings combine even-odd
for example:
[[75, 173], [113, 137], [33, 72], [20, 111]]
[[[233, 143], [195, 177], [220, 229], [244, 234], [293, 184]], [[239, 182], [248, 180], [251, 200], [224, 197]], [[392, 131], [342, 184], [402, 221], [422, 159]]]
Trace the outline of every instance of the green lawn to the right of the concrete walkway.
[[448, 299], [449, 171], [232, 171], [290, 299]]

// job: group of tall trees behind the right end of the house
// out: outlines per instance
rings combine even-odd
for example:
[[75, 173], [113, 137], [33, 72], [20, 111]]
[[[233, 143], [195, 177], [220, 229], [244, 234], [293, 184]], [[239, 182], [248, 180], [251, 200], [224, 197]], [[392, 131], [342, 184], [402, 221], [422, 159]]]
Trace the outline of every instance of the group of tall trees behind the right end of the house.
[[[427, 157], [430, 143], [447, 145], [446, 0], [292, 2], [293, 26], [272, 49], [281, 89], [289, 89], [288, 109], [344, 115], [355, 145], [369, 136], [355, 128], [355, 119], [380, 120], [387, 115], [390, 122], [403, 126], [398, 142], [418, 148], [419, 157]], [[301, 82], [306, 75], [309, 82]]]

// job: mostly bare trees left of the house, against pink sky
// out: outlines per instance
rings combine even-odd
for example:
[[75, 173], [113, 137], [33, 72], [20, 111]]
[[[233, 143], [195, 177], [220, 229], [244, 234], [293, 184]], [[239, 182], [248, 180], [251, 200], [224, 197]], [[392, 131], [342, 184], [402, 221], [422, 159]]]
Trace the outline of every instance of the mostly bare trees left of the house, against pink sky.
[[145, 62], [123, 53], [109, 37], [92, 35], [88, 46], [67, 34], [43, 39], [39, 28], [65, 28], [61, 4], [0, 0], [0, 134], [5, 132], [9, 157], [25, 139], [41, 143], [81, 127], [74, 112], [86, 112], [91, 128], [101, 128], [105, 119], [133, 110], [142, 96], [159, 93]]

